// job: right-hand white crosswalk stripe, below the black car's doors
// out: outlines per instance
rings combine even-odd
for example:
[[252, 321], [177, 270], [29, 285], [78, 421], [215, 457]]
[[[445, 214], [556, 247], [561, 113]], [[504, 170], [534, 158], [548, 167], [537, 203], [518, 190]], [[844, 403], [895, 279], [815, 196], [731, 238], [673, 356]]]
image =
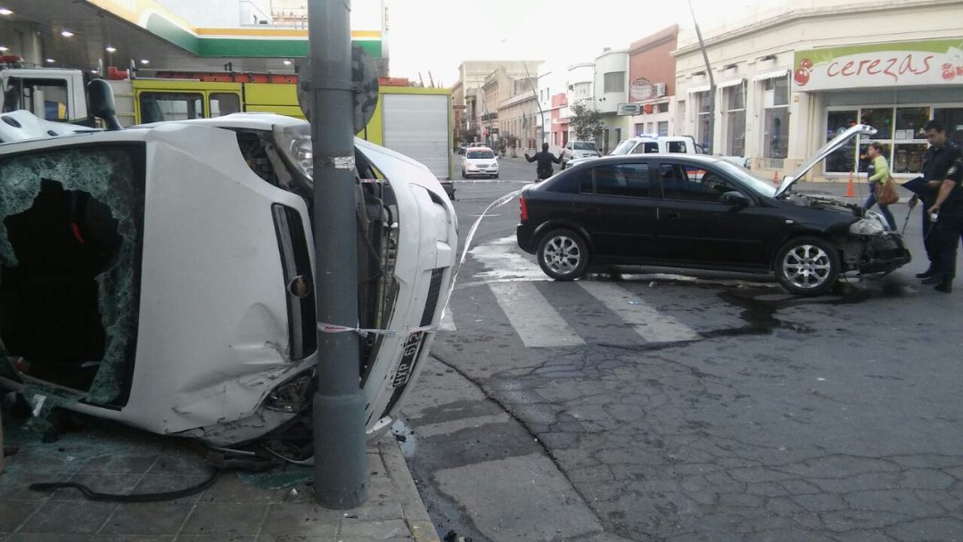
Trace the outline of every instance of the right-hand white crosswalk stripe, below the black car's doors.
[[[649, 343], [695, 341], [699, 334], [685, 323], [665, 315], [652, 305], [614, 284], [580, 280], [577, 283], [626, 323]], [[631, 302], [630, 302], [631, 301]]]

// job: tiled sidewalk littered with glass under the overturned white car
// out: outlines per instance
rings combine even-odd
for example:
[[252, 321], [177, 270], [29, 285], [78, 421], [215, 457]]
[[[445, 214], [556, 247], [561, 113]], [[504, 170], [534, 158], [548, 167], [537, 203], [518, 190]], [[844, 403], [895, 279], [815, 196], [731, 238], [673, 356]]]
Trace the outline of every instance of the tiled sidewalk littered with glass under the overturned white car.
[[[7, 418], [5, 413], [5, 418]], [[189, 487], [208, 476], [201, 453], [174, 438], [97, 423], [43, 444], [5, 422], [0, 474], [0, 542], [22, 541], [437, 541], [414, 481], [388, 435], [368, 449], [368, 502], [352, 510], [314, 503], [301, 482], [310, 471], [272, 473], [253, 483], [228, 472], [206, 491], [165, 503], [96, 503], [74, 489], [45, 494], [31, 483], [76, 481], [104, 493], [149, 493]]]

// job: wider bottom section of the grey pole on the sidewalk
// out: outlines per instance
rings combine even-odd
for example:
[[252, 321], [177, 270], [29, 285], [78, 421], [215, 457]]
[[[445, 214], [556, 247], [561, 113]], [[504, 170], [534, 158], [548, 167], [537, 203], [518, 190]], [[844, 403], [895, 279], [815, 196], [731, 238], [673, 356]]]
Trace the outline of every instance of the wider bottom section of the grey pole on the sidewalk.
[[315, 392], [313, 406], [315, 499], [333, 510], [356, 508], [368, 500], [364, 396]]

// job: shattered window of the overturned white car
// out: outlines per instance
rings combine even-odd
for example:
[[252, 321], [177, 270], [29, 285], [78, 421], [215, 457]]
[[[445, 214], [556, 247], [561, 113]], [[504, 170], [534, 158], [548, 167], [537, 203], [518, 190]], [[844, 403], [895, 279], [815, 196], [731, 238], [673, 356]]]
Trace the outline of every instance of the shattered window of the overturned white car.
[[126, 400], [143, 154], [115, 144], [0, 159], [0, 373], [15, 368], [93, 403]]

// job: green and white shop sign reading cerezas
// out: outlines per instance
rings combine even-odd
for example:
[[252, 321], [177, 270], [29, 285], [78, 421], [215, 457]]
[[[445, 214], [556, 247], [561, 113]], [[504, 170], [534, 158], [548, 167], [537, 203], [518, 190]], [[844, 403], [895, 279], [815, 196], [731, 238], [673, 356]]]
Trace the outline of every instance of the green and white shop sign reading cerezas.
[[794, 90], [963, 85], [963, 40], [870, 43], [796, 51]]

